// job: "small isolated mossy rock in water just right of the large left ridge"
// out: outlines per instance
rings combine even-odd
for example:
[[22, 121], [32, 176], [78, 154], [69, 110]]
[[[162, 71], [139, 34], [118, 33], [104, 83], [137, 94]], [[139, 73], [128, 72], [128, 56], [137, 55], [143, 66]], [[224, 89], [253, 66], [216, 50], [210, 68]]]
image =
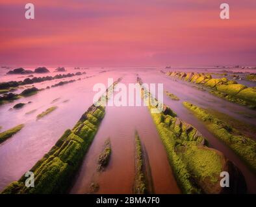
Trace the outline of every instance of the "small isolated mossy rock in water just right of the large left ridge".
[[107, 140], [105, 140], [104, 142], [104, 149], [99, 155], [97, 160], [98, 171], [102, 171], [104, 168], [107, 167], [107, 165], [109, 164], [110, 155], [111, 155], [111, 143], [110, 143], [110, 138], [107, 138]]

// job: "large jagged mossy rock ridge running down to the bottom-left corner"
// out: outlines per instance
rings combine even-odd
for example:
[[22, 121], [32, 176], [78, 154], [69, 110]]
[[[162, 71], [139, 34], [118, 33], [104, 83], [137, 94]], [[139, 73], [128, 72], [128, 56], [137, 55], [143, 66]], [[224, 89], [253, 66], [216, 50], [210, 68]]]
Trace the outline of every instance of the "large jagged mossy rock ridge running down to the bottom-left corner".
[[[92, 105], [75, 127], [72, 130], [66, 130], [55, 146], [36, 162], [30, 170], [34, 172], [34, 188], [25, 186], [27, 177], [23, 175], [21, 179], [7, 186], [2, 193], [66, 193], [74, 173], [83, 162], [84, 154], [96, 135], [104, 113], [103, 107]], [[96, 124], [88, 120], [89, 114], [96, 118], [94, 122]], [[88, 127], [88, 133], [86, 131], [81, 133], [85, 125]]]

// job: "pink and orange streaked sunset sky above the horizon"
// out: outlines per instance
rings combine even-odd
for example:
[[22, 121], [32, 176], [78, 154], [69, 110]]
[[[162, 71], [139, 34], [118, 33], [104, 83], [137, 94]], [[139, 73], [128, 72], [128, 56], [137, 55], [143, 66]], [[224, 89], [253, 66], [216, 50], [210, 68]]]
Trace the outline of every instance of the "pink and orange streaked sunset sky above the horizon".
[[256, 65], [253, 0], [0, 0], [0, 25], [1, 65]]

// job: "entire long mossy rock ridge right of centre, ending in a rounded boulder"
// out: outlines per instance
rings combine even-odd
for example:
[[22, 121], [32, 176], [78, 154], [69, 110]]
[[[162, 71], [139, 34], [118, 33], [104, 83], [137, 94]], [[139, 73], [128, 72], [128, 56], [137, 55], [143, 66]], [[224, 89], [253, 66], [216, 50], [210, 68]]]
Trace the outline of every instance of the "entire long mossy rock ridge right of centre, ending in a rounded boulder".
[[[147, 96], [151, 94], [142, 89], [142, 97]], [[149, 109], [152, 107], [157, 106], [149, 104]], [[205, 138], [196, 128], [175, 117], [173, 113], [166, 113], [172, 111], [166, 109], [167, 106], [162, 113], [151, 113], [151, 116], [183, 193], [225, 193], [230, 190], [244, 193], [246, 182], [239, 169], [220, 151], [207, 147]], [[222, 171], [228, 171], [230, 175], [239, 178], [233, 180], [229, 190], [220, 186]]]

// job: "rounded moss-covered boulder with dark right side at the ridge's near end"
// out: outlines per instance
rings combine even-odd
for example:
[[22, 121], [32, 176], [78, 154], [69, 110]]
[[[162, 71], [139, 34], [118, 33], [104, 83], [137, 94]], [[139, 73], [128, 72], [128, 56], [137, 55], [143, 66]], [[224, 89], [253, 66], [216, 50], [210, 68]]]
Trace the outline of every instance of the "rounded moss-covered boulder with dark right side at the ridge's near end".
[[[205, 146], [181, 146], [176, 148], [176, 152], [203, 193], [246, 193], [246, 181], [241, 171], [220, 151]], [[209, 162], [212, 164], [209, 165]], [[229, 188], [220, 186], [222, 171], [229, 173]]]

